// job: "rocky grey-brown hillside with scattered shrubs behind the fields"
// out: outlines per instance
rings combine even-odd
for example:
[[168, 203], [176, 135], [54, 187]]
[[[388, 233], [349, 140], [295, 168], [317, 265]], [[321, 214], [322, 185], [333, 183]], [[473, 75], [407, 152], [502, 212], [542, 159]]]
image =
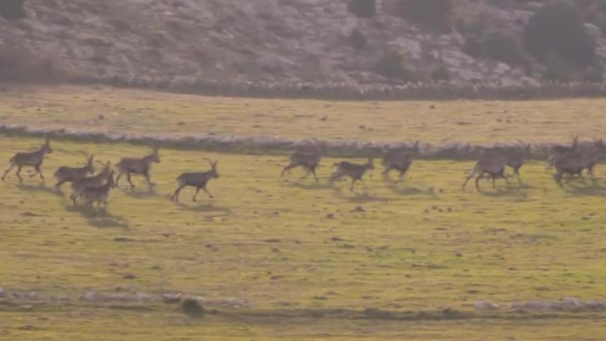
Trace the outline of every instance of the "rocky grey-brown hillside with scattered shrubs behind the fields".
[[595, 10], [581, 8], [596, 58], [569, 66], [523, 47], [528, 21], [549, 1], [452, 1], [439, 28], [407, 17], [397, 2], [377, 1], [366, 15], [348, 0], [25, 0], [24, 18], [0, 19], [0, 72], [11, 80], [12, 63], [32, 58], [80, 79], [139, 83], [603, 79], [606, 39]]

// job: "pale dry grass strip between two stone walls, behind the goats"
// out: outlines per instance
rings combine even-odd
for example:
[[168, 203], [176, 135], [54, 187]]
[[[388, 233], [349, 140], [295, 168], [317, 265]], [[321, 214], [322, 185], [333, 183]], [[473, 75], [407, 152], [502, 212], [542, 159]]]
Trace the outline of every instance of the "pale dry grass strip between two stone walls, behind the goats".
[[[0, 121], [137, 134], [417, 140], [570, 141], [604, 136], [604, 99], [328, 102], [233, 99], [110, 87], [0, 91]], [[102, 117], [102, 118], [100, 118]]]

